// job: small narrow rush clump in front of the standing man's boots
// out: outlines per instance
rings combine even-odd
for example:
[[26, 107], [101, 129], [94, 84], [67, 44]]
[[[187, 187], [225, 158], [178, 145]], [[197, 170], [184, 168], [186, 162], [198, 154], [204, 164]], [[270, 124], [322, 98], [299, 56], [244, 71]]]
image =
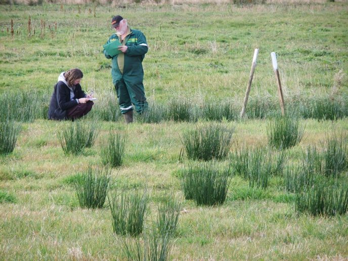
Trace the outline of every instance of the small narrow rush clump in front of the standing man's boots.
[[103, 141], [101, 148], [101, 159], [103, 164], [111, 167], [121, 166], [127, 141], [127, 130], [124, 132], [120, 128], [113, 130], [110, 126], [109, 134], [106, 140]]

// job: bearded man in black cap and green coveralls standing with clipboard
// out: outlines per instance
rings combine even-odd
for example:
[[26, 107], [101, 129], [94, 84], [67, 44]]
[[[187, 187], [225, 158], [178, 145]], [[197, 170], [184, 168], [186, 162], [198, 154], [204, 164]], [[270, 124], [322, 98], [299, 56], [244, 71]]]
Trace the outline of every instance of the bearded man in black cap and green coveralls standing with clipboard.
[[143, 85], [144, 71], [142, 62], [148, 51], [145, 35], [130, 29], [127, 20], [114, 16], [111, 26], [116, 33], [109, 37], [107, 43], [118, 40], [119, 54], [111, 56], [106, 50], [104, 55], [112, 59], [112, 82], [115, 85], [118, 104], [126, 123], [133, 122], [133, 105], [139, 114], [147, 109]]

